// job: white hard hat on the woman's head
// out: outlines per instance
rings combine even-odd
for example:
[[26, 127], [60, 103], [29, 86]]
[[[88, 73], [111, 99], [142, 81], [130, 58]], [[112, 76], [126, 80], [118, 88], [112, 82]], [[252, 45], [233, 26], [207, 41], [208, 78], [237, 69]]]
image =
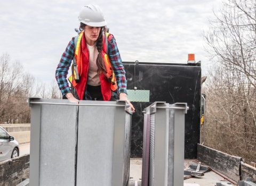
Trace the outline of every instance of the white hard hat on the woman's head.
[[91, 27], [103, 27], [107, 25], [102, 10], [98, 5], [87, 5], [79, 12], [78, 21]]

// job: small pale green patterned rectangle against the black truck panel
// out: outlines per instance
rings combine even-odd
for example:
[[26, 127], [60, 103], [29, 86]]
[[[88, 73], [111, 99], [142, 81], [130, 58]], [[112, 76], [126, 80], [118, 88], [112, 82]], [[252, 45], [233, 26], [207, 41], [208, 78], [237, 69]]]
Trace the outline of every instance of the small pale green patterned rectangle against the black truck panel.
[[149, 90], [127, 90], [130, 102], [149, 102]]

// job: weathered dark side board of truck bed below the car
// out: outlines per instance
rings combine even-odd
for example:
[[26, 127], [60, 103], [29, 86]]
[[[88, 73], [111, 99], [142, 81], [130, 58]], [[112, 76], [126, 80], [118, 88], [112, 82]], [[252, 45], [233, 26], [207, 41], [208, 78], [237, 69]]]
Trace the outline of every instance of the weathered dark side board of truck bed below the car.
[[0, 162], [0, 185], [15, 186], [29, 177], [29, 154]]

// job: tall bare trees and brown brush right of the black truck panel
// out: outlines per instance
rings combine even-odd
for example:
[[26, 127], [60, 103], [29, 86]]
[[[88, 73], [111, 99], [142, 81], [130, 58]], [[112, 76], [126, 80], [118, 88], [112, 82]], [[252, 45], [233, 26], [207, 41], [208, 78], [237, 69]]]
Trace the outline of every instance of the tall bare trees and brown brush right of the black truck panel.
[[205, 145], [256, 162], [256, 1], [229, 0], [204, 31], [212, 61]]

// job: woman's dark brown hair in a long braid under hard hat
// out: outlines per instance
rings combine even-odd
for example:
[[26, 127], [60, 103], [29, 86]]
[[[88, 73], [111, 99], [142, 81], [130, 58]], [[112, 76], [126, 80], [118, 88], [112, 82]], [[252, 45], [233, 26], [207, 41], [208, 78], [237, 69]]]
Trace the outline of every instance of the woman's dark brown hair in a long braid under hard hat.
[[[84, 23], [80, 23], [80, 27], [79, 27], [79, 30], [82, 31], [84, 30], [85, 26], [87, 24], [84, 24]], [[103, 47], [103, 34], [106, 33], [106, 27], [101, 27], [100, 28], [100, 33], [99, 33], [99, 37], [98, 39], [96, 40], [96, 47], [98, 49], [98, 56], [97, 56], [97, 60], [96, 60], [96, 64], [98, 66], [98, 74], [100, 75], [101, 73], [103, 73], [105, 75], [105, 77], [107, 78], [107, 70], [106, 70], [106, 67], [105, 67], [105, 62], [103, 61], [103, 57], [101, 55], [101, 51], [102, 51], [102, 47]], [[105, 35], [106, 37], [106, 35]], [[107, 46], [108, 47], [108, 46]]]

